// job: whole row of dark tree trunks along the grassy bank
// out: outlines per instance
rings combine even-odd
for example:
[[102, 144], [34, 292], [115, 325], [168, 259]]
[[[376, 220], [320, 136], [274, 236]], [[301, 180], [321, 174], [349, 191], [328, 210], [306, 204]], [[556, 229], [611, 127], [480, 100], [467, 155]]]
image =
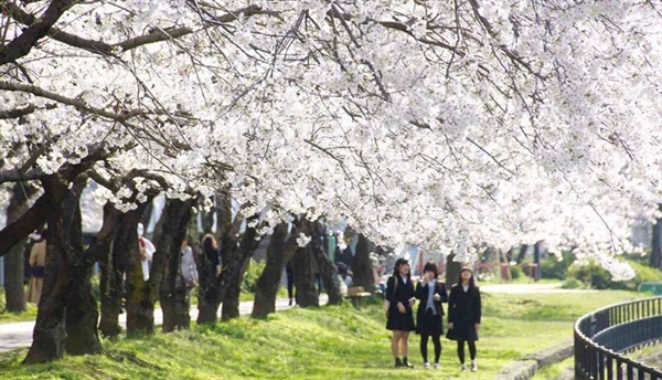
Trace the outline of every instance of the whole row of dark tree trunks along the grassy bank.
[[[83, 244], [81, 193], [87, 178], [77, 177], [75, 182], [60, 176], [42, 179], [44, 194], [40, 202], [46, 211], [41, 224], [47, 223], [47, 255], [44, 286], [41, 296], [33, 344], [25, 363], [45, 362], [70, 355], [97, 353], [103, 350], [98, 332], [115, 339], [121, 331], [119, 315], [122, 308], [127, 313], [127, 334], [153, 334], [154, 303], [160, 302], [163, 310], [163, 331], [190, 327], [189, 299], [185, 283], [181, 276], [181, 242], [189, 235], [192, 221], [192, 207], [196, 200], [168, 200], [158, 222], [154, 234], [157, 252], [153, 255], [150, 277], [143, 281], [139, 253], [138, 223], [145, 219], [148, 203], [122, 213], [113, 204], [104, 207], [102, 230], [87, 249]], [[24, 222], [29, 199], [38, 191], [36, 187], [17, 184], [14, 197], [8, 210], [10, 222]], [[151, 201], [151, 199], [149, 199]], [[257, 230], [248, 226], [238, 234], [242, 217], [232, 219], [232, 204], [222, 202], [216, 210], [222, 221], [221, 244], [223, 267], [216, 276], [204, 255], [196, 255], [200, 273], [199, 323], [217, 319], [220, 305], [223, 305], [222, 318], [231, 319], [239, 315], [241, 284], [249, 258], [258, 246]], [[210, 220], [209, 217], [203, 218]], [[248, 218], [248, 225], [257, 221], [258, 215]], [[210, 224], [210, 223], [206, 223]], [[205, 225], [206, 225], [205, 224]], [[39, 225], [30, 220], [30, 225]], [[17, 225], [12, 226], [17, 229]], [[209, 225], [211, 229], [211, 224]], [[26, 226], [21, 229], [29, 231]], [[296, 284], [299, 289], [298, 303], [301, 307], [319, 306], [319, 294], [313, 288], [313, 274], [310, 261], [316, 260], [329, 294], [330, 304], [339, 304], [342, 298], [339, 291], [335, 265], [327, 258], [322, 249], [323, 228], [307, 220], [291, 225], [281, 223], [274, 229], [267, 249], [267, 265], [258, 279], [253, 316], [265, 317], [275, 312], [276, 295], [280, 275], [286, 263], [292, 257], [297, 266]], [[311, 242], [299, 247], [299, 232], [311, 235]], [[26, 236], [24, 236], [26, 238]], [[15, 306], [24, 307], [23, 271], [11, 260], [23, 262], [23, 244], [10, 252], [9, 263], [13, 268], [8, 276], [8, 300], [15, 296]], [[93, 295], [90, 277], [94, 264], [100, 266], [100, 316], [97, 299]], [[15, 283], [15, 284], [14, 284]], [[15, 287], [15, 289], [9, 289]], [[308, 292], [307, 292], [308, 291]], [[19, 297], [20, 295], [20, 297]], [[122, 305], [122, 299], [126, 304]], [[100, 319], [99, 319], [100, 317]]]

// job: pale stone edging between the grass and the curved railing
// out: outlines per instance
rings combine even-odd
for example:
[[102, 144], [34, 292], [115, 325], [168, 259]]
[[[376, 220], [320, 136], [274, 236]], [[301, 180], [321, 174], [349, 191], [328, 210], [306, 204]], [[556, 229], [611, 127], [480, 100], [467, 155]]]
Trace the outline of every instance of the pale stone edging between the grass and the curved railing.
[[498, 380], [528, 380], [541, 368], [559, 362], [573, 356], [573, 341], [546, 348], [525, 356], [505, 367], [499, 373]]

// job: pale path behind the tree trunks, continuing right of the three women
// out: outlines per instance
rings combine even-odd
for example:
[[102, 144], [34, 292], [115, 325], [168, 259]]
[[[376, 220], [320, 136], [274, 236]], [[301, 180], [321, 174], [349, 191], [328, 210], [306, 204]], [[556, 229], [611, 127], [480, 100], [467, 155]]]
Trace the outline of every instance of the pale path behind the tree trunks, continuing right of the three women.
[[[575, 293], [575, 292], [591, 292], [563, 289], [560, 284], [487, 284], [480, 286], [485, 293], [505, 293], [505, 294], [541, 294], [541, 293]], [[325, 304], [327, 296], [323, 294], [320, 297], [320, 303]], [[287, 298], [276, 300], [276, 310], [285, 310], [290, 308]], [[253, 302], [242, 302], [239, 304], [239, 314], [249, 315], [253, 312]], [[127, 315], [119, 316], [119, 324], [126, 328]], [[193, 306], [191, 309], [191, 319], [197, 318], [197, 308]], [[154, 324], [163, 323], [163, 314], [161, 309], [154, 309]], [[12, 324], [0, 324], [0, 352], [9, 351], [14, 348], [29, 347], [32, 344], [32, 330], [34, 321], [22, 321]]]

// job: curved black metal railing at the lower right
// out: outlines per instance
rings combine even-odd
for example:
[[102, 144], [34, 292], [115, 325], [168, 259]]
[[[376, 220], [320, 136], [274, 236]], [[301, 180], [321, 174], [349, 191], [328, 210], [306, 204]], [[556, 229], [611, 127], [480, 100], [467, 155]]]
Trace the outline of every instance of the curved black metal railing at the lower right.
[[611, 305], [575, 324], [575, 379], [662, 380], [662, 371], [623, 356], [662, 341], [662, 297]]

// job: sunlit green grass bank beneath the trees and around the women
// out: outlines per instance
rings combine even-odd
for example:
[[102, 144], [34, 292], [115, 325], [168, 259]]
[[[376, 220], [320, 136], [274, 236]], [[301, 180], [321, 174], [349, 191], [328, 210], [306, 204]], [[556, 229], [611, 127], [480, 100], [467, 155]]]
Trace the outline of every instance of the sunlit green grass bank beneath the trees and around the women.
[[[493, 379], [526, 353], [572, 337], [576, 317], [638, 297], [627, 292], [484, 295], [477, 373], [460, 373], [452, 342], [444, 339], [439, 378]], [[291, 309], [266, 320], [241, 318], [191, 331], [105, 341], [106, 353], [23, 367], [25, 349], [0, 356], [11, 379], [421, 379], [418, 337], [410, 339], [414, 370], [389, 368], [389, 335], [381, 305]], [[431, 345], [430, 345], [431, 346]], [[431, 350], [431, 347], [430, 347]], [[431, 370], [430, 370], [431, 371]]]

